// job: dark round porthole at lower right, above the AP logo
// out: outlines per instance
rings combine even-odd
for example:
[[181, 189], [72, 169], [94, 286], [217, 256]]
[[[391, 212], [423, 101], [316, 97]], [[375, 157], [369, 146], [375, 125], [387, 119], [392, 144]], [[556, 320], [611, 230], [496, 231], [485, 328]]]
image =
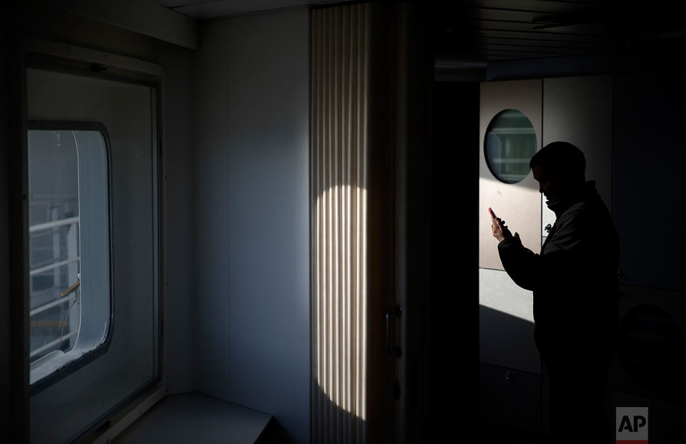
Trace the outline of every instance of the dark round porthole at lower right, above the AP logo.
[[632, 308], [619, 325], [617, 357], [637, 384], [659, 388], [681, 375], [684, 340], [681, 330], [665, 310], [640, 305]]

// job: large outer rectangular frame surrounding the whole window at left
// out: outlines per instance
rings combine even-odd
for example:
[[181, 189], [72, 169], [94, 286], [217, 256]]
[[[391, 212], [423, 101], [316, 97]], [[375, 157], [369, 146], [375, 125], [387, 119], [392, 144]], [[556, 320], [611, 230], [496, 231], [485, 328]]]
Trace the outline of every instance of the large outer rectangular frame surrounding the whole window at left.
[[[156, 378], [137, 391], [131, 392], [103, 415], [88, 423], [74, 439], [115, 436], [118, 432], [103, 432], [112, 425], [120, 430], [139, 417], [167, 393], [167, 369], [165, 341], [165, 168], [163, 156], [163, 127], [165, 126], [165, 69], [161, 64], [142, 59], [121, 56], [118, 53], [80, 47], [76, 45], [44, 40], [33, 36], [13, 34], [9, 38], [9, 69], [7, 130], [8, 160], [6, 193], [8, 216], [8, 297], [10, 349], [8, 350], [8, 374], [14, 381], [8, 398], [13, 406], [8, 419], [8, 436], [18, 441], [29, 441], [29, 416], [32, 394], [29, 384], [29, 269], [28, 261], [28, 163], [27, 163], [27, 69], [44, 69], [60, 73], [71, 73], [84, 77], [110, 79], [117, 82], [152, 87], [153, 119], [153, 189], [154, 189], [154, 292], [156, 294]], [[64, 119], [68, 121], [69, 119]], [[111, 155], [110, 155], [111, 156]], [[110, 157], [110, 186], [113, 183], [113, 165]], [[110, 209], [113, 208], [115, 193], [110, 189]], [[114, 214], [110, 214], [110, 236]], [[117, 236], [113, 236], [115, 239]], [[114, 242], [114, 240], [113, 240]], [[113, 257], [116, 245], [110, 249]], [[9, 260], [12, 258], [12, 260]], [[110, 264], [110, 267], [115, 267]], [[115, 286], [113, 286], [115, 287]], [[116, 288], [114, 288], [116, 290]], [[110, 334], [112, 337], [112, 334]], [[105, 354], [106, 355], [106, 354]], [[102, 358], [103, 356], [101, 356]], [[84, 367], [88, 367], [84, 365]], [[135, 407], [135, 409], [133, 408]], [[111, 424], [110, 424], [111, 423]]]

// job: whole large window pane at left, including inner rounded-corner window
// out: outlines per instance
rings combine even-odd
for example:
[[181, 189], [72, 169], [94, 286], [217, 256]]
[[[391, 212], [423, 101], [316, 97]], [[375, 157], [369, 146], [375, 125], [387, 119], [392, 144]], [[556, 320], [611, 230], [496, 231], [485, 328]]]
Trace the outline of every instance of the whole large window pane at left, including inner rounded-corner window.
[[161, 77], [96, 72], [72, 50], [26, 58], [21, 290], [36, 444], [78, 441], [164, 387]]

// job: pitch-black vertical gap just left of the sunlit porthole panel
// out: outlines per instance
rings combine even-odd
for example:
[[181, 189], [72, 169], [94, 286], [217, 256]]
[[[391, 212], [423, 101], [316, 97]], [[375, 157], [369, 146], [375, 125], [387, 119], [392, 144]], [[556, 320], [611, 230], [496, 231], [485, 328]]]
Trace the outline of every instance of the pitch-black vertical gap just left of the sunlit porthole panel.
[[479, 84], [436, 82], [425, 436], [451, 443], [477, 423]]

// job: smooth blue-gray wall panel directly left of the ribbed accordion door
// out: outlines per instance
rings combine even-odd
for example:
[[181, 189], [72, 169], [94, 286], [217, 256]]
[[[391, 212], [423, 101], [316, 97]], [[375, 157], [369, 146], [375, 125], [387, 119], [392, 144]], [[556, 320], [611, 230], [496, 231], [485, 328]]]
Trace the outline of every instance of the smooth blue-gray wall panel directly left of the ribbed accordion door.
[[231, 400], [309, 439], [309, 12], [228, 20]]

